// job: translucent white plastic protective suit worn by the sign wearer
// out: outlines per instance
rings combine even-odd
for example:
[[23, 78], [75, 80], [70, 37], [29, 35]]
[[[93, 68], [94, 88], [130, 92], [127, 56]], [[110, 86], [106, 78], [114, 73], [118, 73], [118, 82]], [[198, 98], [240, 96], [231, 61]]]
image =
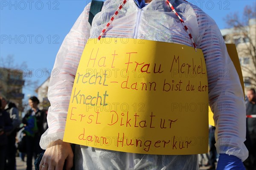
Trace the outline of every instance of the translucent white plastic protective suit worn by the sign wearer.
[[[197, 48], [204, 53], [218, 153], [231, 154], [244, 161], [248, 155], [243, 143], [244, 94], [221, 32], [212, 18], [197, 6], [184, 0], [170, 2], [189, 28]], [[90, 4], [86, 6], [62, 43], [49, 84], [48, 98], [52, 107], [47, 116], [49, 129], [41, 139], [43, 149], [52, 140], [63, 139], [73, 82], [87, 39], [100, 35], [121, 3], [121, 0], [105, 1], [102, 11], [93, 19], [92, 27], [88, 22]], [[146, 39], [192, 46], [188, 33], [165, 0], [153, 0], [142, 9], [137, 7], [134, 0], [128, 0], [102, 37]], [[148, 50], [147, 47], [145, 50]], [[58, 108], [55, 109], [55, 106]], [[79, 145], [76, 147], [75, 161], [76, 170], [198, 169], [197, 155], [144, 155]]]

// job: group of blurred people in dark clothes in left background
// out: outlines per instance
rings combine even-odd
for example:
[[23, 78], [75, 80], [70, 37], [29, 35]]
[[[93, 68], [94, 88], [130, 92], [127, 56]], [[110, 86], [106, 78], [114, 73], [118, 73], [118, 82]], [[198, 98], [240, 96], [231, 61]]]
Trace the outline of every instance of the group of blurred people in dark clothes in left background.
[[29, 109], [20, 118], [15, 103], [0, 96], [0, 170], [16, 170], [16, 156], [25, 161], [27, 170], [32, 170], [32, 158], [36, 159], [43, 150], [39, 145], [41, 135], [46, 130], [46, 116], [38, 108], [36, 96], [29, 98]]

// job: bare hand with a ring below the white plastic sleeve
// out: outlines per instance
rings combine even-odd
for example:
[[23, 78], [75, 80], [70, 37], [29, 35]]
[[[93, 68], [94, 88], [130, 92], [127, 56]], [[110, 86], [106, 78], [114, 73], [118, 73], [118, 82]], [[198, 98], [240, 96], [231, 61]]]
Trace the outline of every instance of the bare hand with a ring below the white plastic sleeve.
[[66, 160], [66, 170], [73, 167], [73, 151], [70, 143], [58, 140], [48, 147], [40, 162], [40, 170], [63, 170]]

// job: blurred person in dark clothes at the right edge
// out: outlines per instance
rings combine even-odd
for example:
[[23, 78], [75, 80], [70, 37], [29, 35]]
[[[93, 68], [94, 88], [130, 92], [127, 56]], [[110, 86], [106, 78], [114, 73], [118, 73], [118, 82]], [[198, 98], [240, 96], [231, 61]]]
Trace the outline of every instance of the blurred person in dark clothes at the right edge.
[[247, 170], [256, 170], [256, 91], [251, 88], [247, 91], [246, 103], [246, 146], [249, 157], [244, 161]]

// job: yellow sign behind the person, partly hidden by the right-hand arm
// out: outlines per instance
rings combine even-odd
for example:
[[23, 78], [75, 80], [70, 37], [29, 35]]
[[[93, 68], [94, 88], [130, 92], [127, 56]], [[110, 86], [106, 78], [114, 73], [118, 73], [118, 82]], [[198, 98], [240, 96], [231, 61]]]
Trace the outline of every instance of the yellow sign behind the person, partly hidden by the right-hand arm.
[[[240, 79], [240, 83], [244, 92], [244, 79], [243, 79], [243, 75], [242, 75], [242, 70], [241, 70], [241, 65], [239, 62], [239, 57], [236, 51], [236, 45], [235, 44], [226, 44], [227, 46], [227, 52], [230, 56], [230, 59], [232, 60], [235, 68], [236, 68], [236, 72], [239, 76]], [[209, 125], [215, 126], [214, 120], [213, 120], [213, 113], [211, 108], [209, 107]]]

